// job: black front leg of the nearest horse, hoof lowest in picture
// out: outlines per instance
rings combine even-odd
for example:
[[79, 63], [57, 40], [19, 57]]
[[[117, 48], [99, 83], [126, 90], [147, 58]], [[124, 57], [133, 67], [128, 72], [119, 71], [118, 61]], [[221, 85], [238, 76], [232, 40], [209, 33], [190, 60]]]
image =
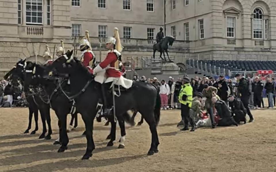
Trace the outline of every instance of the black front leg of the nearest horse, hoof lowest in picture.
[[81, 114], [81, 116], [85, 124], [85, 136], [87, 140], [86, 152], [81, 159], [89, 159], [90, 157], [92, 157], [92, 151], [95, 149], [95, 144], [92, 136], [92, 128], [96, 112], [93, 112], [92, 116], [91, 113], [83, 113]]

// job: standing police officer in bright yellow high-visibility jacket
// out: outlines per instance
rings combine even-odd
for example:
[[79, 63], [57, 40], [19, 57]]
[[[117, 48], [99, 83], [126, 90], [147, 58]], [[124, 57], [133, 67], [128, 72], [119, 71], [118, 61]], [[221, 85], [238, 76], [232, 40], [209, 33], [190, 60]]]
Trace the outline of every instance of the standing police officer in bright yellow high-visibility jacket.
[[181, 118], [184, 121], [184, 128], [181, 130], [189, 130], [190, 123], [192, 126], [191, 131], [195, 131], [195, 123], [189, 114], [193, 101], [193, 87], [190, 85], [189, 77], [183, 77], [182, 88], [178, 100], [181, 103]]

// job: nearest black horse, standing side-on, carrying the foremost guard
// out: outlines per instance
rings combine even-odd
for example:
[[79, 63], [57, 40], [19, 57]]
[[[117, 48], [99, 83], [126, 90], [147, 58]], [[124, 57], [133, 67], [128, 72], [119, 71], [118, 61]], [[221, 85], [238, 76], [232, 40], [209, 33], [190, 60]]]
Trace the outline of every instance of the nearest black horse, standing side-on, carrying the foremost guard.
[[[87, 149], [82, 159], [89, 159], [92, 156], [92, 151], [95, 149], [92, 131], [94, 118], [97, 113], [96, 106], [101, 97], [100, 83], [94, 81], [94, 77], [75, 58], [61, 56], [54, 61], [49, 69], [53, 73], [69, 76], [71, 97], [75, 98], [77, 110], [82, 115], [86, 129]], [[112, 99], [109, 99], [109, 101], [112, 101]], [[148, 155], [158, 152], [159, 139], [156, 121], [159, 121], [160, 107], [156, 106], [156, 101], [160, 101], [157, 89], [151, 84], [142, 82], [134, 82], [133, 87], [125, 92], [121, 92], [120, 97], [115, 97], [115, 102], [117, 102], [115, 114], [120, 126], [124, 125], [123, 114], [126, 114], [131, 109], [137, 109], [149, 124], [152, 133], [152, 143]], [[112, 123], [114, 122], [112, 121]], [[111, 127], [111, 130], [111, 133], [115, 133], [116, 126], [114, 128]], [[121, 133], [122, 135], [123, 133]], [[112, 140], [115, 140], [115, 134], [112, 137]], [[124, 141], [124, 139], [124, 137], [121, 137], [120, 141]], [[112, 145], [113, 142], [108, 143], [108, 146]]]

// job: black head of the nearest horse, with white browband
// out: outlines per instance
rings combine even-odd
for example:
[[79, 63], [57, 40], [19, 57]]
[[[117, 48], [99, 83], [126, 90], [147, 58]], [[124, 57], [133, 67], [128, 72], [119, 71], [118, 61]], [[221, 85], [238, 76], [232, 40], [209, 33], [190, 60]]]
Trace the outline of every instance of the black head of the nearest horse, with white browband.
[[72, 56], [72, 51], [67, 51], [64, 55], [57, 58], [51, 65], [47, 67], [48, 75], [69, 75], [71, 73], [71, 67], [75, 62]]

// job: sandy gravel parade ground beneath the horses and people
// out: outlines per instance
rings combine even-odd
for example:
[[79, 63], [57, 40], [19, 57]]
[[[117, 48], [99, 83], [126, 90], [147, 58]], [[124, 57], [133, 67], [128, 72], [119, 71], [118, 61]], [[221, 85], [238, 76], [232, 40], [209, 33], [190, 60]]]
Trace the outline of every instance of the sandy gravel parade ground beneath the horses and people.
[[[276, 111], [252, 111], [255, 122], [238, 127], [200, 128], [180, 132], [176, 127], [179, 110], [161, 112], [158, 126], [159, 153], [146, 156], [151, 143], [149, 126], [127, 127], [126, 147], [106, 147], [110, 127], [94, 124], [96, 149], [90, 160], [81, 161], [86, 139], [79, 115], [79, 127], [68, 134], [68, 150], [57, 153], [57, 118], [52, 111], [51, 140], [39, 140], [42, 125], [35, 135], [22, 134], [28, 124], [28, 109], [0, 109], [0, 171], [276, 171]], [[71, 118], [71, 117], [70, 117]], [[137, 115], [136, 121], [140, 120]], [[34, 129], [34, 125], [33, 128]], [[117, 128], [117, 140], [119, 139]]]

